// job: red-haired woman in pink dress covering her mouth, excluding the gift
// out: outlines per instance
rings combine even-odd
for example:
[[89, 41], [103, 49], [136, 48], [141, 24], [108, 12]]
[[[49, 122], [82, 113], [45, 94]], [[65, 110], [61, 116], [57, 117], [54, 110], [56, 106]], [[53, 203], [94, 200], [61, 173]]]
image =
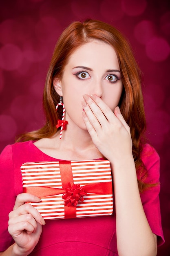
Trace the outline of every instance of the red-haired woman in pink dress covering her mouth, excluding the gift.
[[[56, 129], [60, 98], [68, 122], [62, 133]], [[0, 255], [156, 255], [163, 243], [159, 156], [145, 144], [139, 69], [121, 33], [97, 20], [68, 26], [55, 47], [43, 102], [45, 126], [22, 135], [25, 142], [1, 154]], [[33, 206], [24, 204], [40, 202], [22, 193], [24, 162], [103, 158], [113, 175], [112, 216], [45, 224]]]

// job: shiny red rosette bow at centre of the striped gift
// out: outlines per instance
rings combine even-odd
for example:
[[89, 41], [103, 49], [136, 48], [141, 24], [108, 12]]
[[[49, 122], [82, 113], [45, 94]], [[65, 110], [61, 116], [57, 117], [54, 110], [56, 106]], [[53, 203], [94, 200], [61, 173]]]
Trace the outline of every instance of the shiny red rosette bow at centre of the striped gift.
[[84, 195], [87, 195], [86, 192], [83, 192], [84, 187], [80, 187], [79, 184], [69, 184], [66, 188], [66, 193], [62, 195], [62, 198], [65, 200], [65, 204], [67, 206], [77, 206], [78, 202], [84, 201]]

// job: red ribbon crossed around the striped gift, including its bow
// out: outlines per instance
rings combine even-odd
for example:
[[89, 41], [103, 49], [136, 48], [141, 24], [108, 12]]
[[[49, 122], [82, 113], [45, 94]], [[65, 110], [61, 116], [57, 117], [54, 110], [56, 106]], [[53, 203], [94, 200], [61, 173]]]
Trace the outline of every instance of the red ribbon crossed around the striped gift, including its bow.
[[24, 193], [31, 193], [44, 198], [50, 195], [63, 194], [62, 198], [65, 200], [64, 217], [76, 218], [77, 203], [84, 201], [84, 195], [87, 193], [95, 194], [112, 194], [112, 182], [97, 182], [84, 186], [73, 183], [73, 175], [71, 168], [71, 161], [60, 161], [60, 173], [62, 180], [62, 189], [48, 186], [28, 186], [23, 188]]

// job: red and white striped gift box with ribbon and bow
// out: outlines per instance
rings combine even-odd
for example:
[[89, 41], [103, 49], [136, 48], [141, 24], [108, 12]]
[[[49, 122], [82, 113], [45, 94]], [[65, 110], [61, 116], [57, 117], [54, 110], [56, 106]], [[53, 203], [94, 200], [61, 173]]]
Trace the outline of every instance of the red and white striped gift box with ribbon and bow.
[[21, 166], [23, 192], [44, 219], [106, 216], [113, 213], [112, 176], [108, 160], [31, 162]]

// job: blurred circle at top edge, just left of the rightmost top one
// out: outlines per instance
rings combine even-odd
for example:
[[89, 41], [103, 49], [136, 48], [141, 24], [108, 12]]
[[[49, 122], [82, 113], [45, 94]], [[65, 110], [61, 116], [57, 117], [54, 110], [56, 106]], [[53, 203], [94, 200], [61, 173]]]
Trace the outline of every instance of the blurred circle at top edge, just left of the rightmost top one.
[[[114, 11], [113, 13], [113, 10]], [[100, 13], [106, 20], [120, 20], [124, 16], [120, 1], [103, 0], [100, 4]]]

